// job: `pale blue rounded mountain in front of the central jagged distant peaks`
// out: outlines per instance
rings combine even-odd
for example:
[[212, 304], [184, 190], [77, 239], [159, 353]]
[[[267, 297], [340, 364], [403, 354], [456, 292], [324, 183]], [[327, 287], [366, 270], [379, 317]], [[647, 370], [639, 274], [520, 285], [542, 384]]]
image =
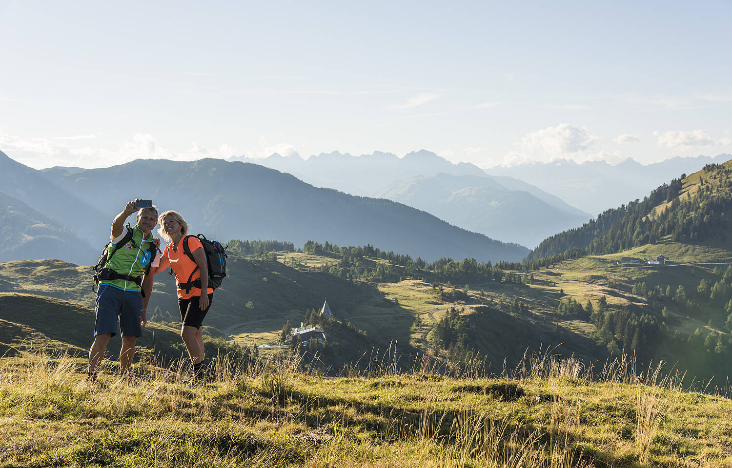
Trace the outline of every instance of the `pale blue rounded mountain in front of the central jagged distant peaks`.
[[548, 235], [578, 226], [590, 217], [561, 211], [528, 192], [506, 189], [481, 176], [439, 173], [410, 178], [378, 196], [414, 206], [467, 230], [526, 246], [536, 246]]

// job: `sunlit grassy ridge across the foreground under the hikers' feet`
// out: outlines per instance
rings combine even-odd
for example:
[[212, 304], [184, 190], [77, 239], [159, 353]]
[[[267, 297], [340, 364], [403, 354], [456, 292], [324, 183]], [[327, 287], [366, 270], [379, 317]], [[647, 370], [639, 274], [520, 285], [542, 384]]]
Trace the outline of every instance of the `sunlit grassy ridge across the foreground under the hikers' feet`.
[[[426, 358], [425, 358], [426, 359]], [[727, 467], [732, 401], [657, 368], [534, 355], [498, 378], [397, 372], [324, 377], [285, 353], [136, 365], [97, 382], [83, 360], [0, 361], [0, 467]]]

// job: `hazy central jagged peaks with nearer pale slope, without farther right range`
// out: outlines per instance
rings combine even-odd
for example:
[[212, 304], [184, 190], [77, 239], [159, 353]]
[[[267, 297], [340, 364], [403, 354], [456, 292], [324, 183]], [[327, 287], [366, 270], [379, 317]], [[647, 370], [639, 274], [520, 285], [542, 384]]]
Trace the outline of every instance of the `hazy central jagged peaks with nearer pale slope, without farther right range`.
[[[272, 167], [315, 186], [405, 203], [490, 238], [526, 246], [535, 246], [548, 235], [591, 218], [589, 213], [536, 186], [512, 177], [489, 176], [467, 162], [452, 164], [424, 149], [402, 158], [381, 151], [361, 156], [334, 151], [307, 160], [297, 154], [277, 153], [264, 159], [229, 160]], [[487, 189], [488, 186], [491, 188]], [[461, 190], [462, 195], [456, 195], [456, 190]], [[469, 200], [466, 192], [471, 192]], [[547, 214], [542, 216], [547, 224], [534, 219], [532, 214], [537, 211]]]

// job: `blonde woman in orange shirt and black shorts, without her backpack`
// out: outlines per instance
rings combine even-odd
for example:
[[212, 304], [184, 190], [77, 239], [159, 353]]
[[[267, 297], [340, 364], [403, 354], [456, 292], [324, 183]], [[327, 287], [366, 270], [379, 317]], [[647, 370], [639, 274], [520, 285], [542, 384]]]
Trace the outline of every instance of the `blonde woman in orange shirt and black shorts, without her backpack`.
[[[181, 337], [193, 363], [193, 371], [198, 374], [203, 369], [203, 339], [201, 337], [201, 323], [206, 312], [209, 312], [214, 290], [209, 286], [209, 268], [206, 263], [206, 254], [203, 245], [194, 235], [187, 236], [188, 224], [183, 216], [176, 211], [165, 211], [160, 215], [160, 230], [158, 233], [168, 241], [163, 255], [160, 257], [160, 266], [154, 273], [165, 271], [170, 265], [176, 275], [178, 289], [178, 307], [181, 312]], [[186, 237], [187, 236], [187, 237]], [[185, 253], [183, 242], [193, 254], [193, 260]], [[193, 273], [193, 274], [192, 274]], [[201, 281], [201, 287], [182, 289], [180, 284]], [[201, 294], [205, 290], [206, 294]]]

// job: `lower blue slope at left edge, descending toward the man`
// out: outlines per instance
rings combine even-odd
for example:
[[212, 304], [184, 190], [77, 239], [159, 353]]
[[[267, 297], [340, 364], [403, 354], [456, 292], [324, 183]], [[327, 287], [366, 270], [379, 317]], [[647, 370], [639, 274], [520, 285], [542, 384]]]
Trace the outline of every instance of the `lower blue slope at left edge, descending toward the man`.
[[77, 263], [98, 257], [86, 241], [26, 203], [0, 192], [0, 262], [63, 256]]

